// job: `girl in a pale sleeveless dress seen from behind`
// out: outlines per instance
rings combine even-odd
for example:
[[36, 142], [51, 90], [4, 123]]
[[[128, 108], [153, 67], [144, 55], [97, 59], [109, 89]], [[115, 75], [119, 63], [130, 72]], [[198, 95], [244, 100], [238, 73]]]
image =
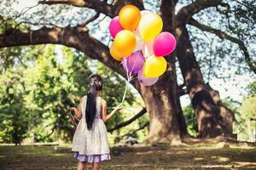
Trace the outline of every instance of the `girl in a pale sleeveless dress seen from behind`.
[[79, 160], [78, 170], [85, 167], [85, 162], [93, 163], [92, 169], [99, 169], [100, 161], [110, 160], [107, 138], [108, 122], [122, 105], [118, 105], [109, 115], [107, 102], [101, 98], [102, 78], [98, 75], [89, 77], [88, 93], [80, 100], [79, 108], [71, 108], [80, 119], [73, 136], [72, 150]]

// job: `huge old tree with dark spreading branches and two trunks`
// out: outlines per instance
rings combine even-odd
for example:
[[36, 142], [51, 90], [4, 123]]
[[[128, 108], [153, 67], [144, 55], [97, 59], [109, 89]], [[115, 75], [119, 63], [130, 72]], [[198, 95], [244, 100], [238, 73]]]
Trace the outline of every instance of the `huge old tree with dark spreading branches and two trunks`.
[[[181, 2], [184, 2], [182, 8], [175, 13], [177, 4]], [[91, 31], [88, 25], [97, 20], [101, 14], [113, 18], [113, 16], [118, 15], [119, 9], [128, 3], [144, 9], [143, 0], [113, 0], [112, 3], [105, 0], [48, 0], [39, 3], [47, 4], [49, 7], [65, 3], [67, 6], [86, 8], [87, 10], [94, 9], [95, 15], [75, 26], [60, 27], [52, 23], [46, 23], [38, 30], [24, 30], [20, 29], [19, 26], [8, 28], [0, 35], [0, 48], [44, 43], [62, 44], [79, 49], [91, 59], [101, 61], [104, 65], [125, 77], [122, 67], [110, 56], [108, 45], [90, 35]], [[159, 12], [164, 22], [163, 31], [171, 31], [177, 38], [177, 49], [175, 54], [166, 58], [167, 71], [154, 86], [143, 87], [137, 80], [131, 82], [141, 94], [149, 114], [148, 141], [152, 142], [160, 139], [174, 143], [179, 142], [181, 138], [187, 135], [186, 123], [179, 100], [179, 97], [183, 94], [189, 94], [191, 99], [200, 137], [216, 137], [219, 135], [230, 137], [234, 116], [230, 109], [221, 103], [218, 91], [205, 82], [201, 67], [195, 58], [195, 50], [188, 31], [188, 26], [195, 26], [202, 31], [211, 32], [221, 39], [227, 39], [238, 44], [245, 56], [247, 65], [255, 73], [255, 63], [250, 58], [245, 43], [239, 37], [233, 36], [231, 32], [201, 24], [194, 18], [196, 14], [201, 14], [208, 8], [216, 8], [220, 15], [226, 15], [228, 12], [225, 11], [230, 10], [230, 1], [162, 0], [159, 3], [156, 1], [155, 4], [159, 6]], [[57, 17], [57, 15], [52, 15], [52, 17]], [[2, 20], [9, 19], [2, 17]], [[40, 20], [23, 20], [22, 22], [28, 24], [28, 26], [42, 25]], [[108, 30], [108, 28], [105, 29]], [[176, 60], [178, 60], [183, 76], [183, 84], [180, 86], [177, 84]]]

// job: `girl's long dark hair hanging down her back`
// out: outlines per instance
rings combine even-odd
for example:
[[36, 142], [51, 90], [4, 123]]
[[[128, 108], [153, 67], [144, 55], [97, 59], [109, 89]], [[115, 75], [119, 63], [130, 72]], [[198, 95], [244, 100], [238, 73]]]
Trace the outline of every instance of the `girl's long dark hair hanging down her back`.
[[102, 91], [102, 77], [99, 75], [91, 75], [89, 77], [87, 103], [85, 108], [85, 119], [87, 128], [90, 130], [96, 115], [96, 91]]

